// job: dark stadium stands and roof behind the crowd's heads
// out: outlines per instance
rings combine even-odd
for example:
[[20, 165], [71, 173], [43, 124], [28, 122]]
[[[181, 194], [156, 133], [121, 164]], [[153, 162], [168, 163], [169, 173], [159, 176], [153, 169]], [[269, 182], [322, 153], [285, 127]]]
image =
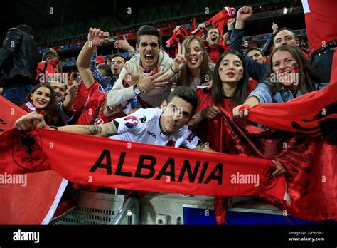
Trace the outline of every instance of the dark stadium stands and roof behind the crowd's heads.
[[[109, 41], [98, 49], [107, 58], [112, 53], [125, 51], [114, 49], [114, 41], [129, 34], [128, 41], [135, 46], [135, 33], [143, 24], [161, 29], [163, 46], [177, 25], [189, 27], [196, 18], [197, 24], [207, 21], [224, 6], [253, 6], [252, 19], [245, 27], [245, 40], [249, 46], [262, 46], [272, 32], [272, 22], [297, 31], [301, 48], [306, 49], [306, 31], [301, 1], [4, 1], [0, 15], [0, 39], [6, 31], [19, 24], [28, 24], [35, 31], [34, 40], [41, 55], [54, 48], [63, 62], [63, 71], [76, 69], [76, 59], [86, 41], [90, 26], [110, 32]], [[265, 35], [264, 35], [265, 34]]]

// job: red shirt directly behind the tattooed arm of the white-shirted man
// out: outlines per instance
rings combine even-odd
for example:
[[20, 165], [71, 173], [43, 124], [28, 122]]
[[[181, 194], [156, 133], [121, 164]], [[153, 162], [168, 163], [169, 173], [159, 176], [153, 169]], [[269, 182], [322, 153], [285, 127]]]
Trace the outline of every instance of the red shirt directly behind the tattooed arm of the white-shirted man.
[[89, 99], [87, 100], [85, 109], [82, 111], [82, 114], [80, 115], [80, 118], [78, 118], [76, 124], [90, 125], [92, 119], [95, 118], [93, 125], [100, 125], [103, 123], [109, 123], [115, 118], [125, 116], [124, 111], [111, 117], [105, 117], [105, 115], [103, 115], [102, 105], [105, 101], [105, 92], [100, 83], [92, 83], [92, 86], [87, 89], [87, 93], [89, 94]]

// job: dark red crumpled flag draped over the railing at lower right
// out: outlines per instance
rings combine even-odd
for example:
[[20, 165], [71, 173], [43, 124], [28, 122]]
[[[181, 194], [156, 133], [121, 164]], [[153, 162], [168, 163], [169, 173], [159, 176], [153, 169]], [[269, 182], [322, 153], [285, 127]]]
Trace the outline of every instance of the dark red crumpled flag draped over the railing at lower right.
[[[232, 115], [223, 109], [222, 113], [219, 117], [223, 120], [218, 127], [220, 130], [208, 132], [222, 133], [219, 145], [223, 150], [231, 154], [279, 160], [287, 170], [285, 177], [290, 205], [263, 193], [258, 197], [302, 219], [337, 219], [336, 145], [321, 138], [281, 130], [263, 131], [247, 123], [237, 125]], [[224, 219], [225, 208], [217, 212], [217, 219]]]

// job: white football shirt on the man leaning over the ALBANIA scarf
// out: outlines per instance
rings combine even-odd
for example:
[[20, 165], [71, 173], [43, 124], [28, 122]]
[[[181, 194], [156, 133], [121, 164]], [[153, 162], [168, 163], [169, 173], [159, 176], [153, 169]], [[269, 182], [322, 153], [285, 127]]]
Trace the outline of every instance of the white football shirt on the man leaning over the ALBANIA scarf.
[[198, 137], [184, 125], [170, 136], [161, 133], [159, 120], [162, 110], [160, 108], [141, 108], [127, 117], [114, 119], [119, 123], [117, 135], [109, 138], [114, 140], [135, 141], [152, 145], [180, 146], [194, 149], [198, 145]]

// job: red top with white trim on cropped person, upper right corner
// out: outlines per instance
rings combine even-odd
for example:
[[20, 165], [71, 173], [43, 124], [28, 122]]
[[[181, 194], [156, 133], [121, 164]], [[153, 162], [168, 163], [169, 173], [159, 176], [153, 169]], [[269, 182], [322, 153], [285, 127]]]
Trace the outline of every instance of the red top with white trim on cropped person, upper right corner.
[[310, 56], [331, 41], [337, 41], [337, 1], [302, 0]]

